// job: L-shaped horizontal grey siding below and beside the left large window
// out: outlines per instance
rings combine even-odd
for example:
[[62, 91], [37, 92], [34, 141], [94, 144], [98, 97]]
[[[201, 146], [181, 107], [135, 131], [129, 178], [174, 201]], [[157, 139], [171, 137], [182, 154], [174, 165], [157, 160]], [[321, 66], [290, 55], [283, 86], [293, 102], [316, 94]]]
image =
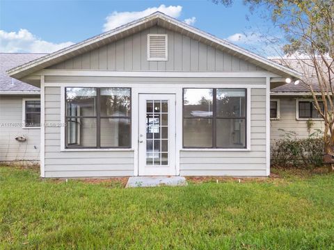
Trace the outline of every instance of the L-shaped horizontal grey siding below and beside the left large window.
[[45, 177], [134, 175], [133, 151], [61, 152], [61, 88], [45, 88], [45, 124]]

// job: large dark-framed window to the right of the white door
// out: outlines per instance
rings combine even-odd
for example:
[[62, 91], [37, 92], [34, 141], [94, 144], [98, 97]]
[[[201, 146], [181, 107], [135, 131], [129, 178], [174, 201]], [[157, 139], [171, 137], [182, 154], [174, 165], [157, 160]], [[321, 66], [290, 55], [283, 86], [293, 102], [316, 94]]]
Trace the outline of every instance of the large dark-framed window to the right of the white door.
[[246, 148], [246, 90], [183, 90], [184, 148]]

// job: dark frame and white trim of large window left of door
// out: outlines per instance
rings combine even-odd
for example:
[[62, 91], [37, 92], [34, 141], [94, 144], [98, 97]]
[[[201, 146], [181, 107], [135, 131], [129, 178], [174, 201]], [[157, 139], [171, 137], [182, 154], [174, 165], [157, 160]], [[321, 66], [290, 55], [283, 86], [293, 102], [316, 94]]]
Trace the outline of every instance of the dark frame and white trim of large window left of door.
[[[94, 88], [96, 89], [96, 99], [94, 102], [94, 108], [95, 108], [95, 113], [96, 115], [90, 115], [90, 116], [76, 116], [76, 117], [67, 117], [67, 99], [66, 99], [66, 89], [67, 88]], [[124, 88], [124, 89], [129, 89], [130, 91], [130, 110], [131, 110], [131, 115], [127, 117], [120, 117], [120, 116], [101, 116], [101, 109], [100, 109], [100, 91], [102, 88]], [[111, 150], [127, 150], [127, 149], [132, 149], [132, 88], [128, 87], [71, 87], [71, 86], [66, 86], [64, 87], [64, 121], [65, 121], [65, 133], [62, 135], [64, 137], [64, 143], [62, 143], [62, 151], [80, 151], [80, 150], [91, 150], [92, 151], [111, 151]], [[69, 145], [67, 144], [67, 119], [69, 118], [92, 118], [96, 119], [96, 147], [75, 147], [74, 145]], [[129, 119], [130, 121], [130, 139], [129, 139], [129, 146], [121, 146], [121, 147], [101, 147], [101, 119], [105, 118], [110, 118], [110, 119]], [[100, 147], [99, 147], [100, 146]]]

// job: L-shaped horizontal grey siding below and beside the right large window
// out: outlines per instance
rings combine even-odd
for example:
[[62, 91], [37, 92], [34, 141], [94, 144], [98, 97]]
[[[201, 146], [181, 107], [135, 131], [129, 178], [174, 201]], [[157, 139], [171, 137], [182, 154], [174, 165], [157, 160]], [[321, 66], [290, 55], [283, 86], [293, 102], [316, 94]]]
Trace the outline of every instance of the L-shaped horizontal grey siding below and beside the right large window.
[[266, 176], [266, 90], [250, 94], [250, 151], [181, 151], [182, 176]]

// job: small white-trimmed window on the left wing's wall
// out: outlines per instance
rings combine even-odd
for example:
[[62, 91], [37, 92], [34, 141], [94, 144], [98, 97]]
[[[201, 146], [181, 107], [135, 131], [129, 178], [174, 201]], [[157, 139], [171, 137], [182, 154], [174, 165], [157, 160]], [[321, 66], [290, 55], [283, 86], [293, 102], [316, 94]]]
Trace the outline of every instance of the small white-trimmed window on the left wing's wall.
[[40, 127], [40, 99], [23, 99], [23, 124], [26, 128]]

